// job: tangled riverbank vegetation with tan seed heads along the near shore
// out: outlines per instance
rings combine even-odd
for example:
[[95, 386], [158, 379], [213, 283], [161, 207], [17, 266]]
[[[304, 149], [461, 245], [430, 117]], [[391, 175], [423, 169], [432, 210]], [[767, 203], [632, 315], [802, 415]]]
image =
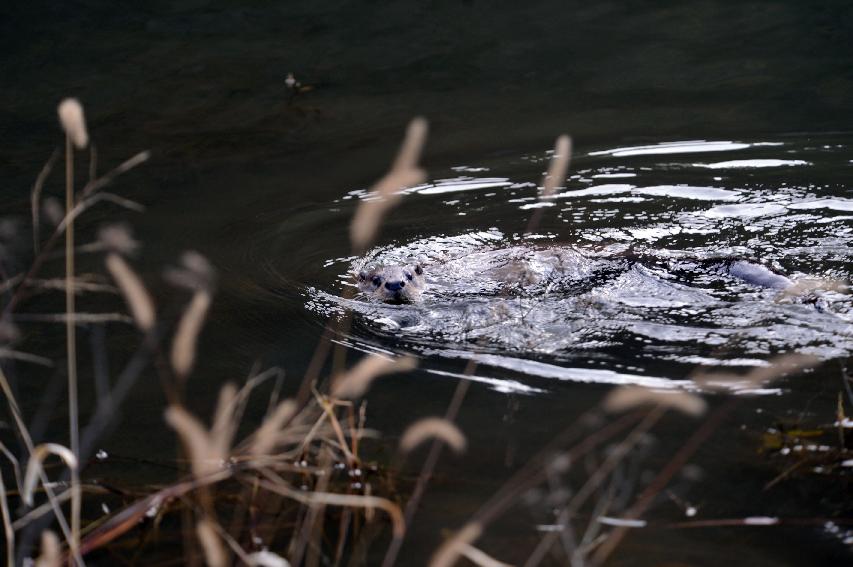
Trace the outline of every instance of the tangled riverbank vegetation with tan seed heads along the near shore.
[[[199, 352], [199, 337], [216, 301], [215, 267], [196, 252], [176, 248], [178, 260], [162, 274], [168, 287], [152, 286], [134, 268], [138, 243], [125, 225], [106, 222], [97, 234], [79, 233], [75, 221], [93, 209], [143, 210], [121, 195], [120, 186], [122, 176], [150, 156], [141, 152], [100, 173], [80, 104], [63, 101], [59, 118], [64, 150], [36, 178], [30, 226], [3, 234], [0, 388], [8, 427], [0, 445], [0, 509], [6, 563], [37, 557], [42, 566], [411, 564], [400, 553], [430, 481], [448, 451], [461, 455], [468, 449], [457, 422], [470, 382], [458, 382], [443, 415], [415, 421], [398, 440], [383, 438], [368, 426], [364, 395], [377, 378], [411, 371], [418, 361], [406, 354], [354, 358], [339, 340], [351, 323], [344, 315], [327, 322], [292, 395], [284, 393], [280, 369], [258, 368], [240, 382], [217, 385], [215, 407], [209, 415], [197, 415], [188, 407], [187, 392], [193, 381], [204, 380], [194, 373], [199, 357], [215, 356]], [[413, 120], [389, 172], [355, 211], [354, 256], [375, 242], [402, 190], [426, 179], [420, 165], [426, 140], [426, 121]], [[559, 137], [542, 183], [544, 206], [534, 209], [528, 233], [547, 214], [570, 153], [570, 139]], [[63, 164], [64, 205], [44, 195], [46, 181], [60, 175]], [[154, 288], [169, 291], [157, 296]], [[41, 329], [56, 323], [65, 330], [64, 356], [29, 350], [44, 342]], [[106, 334], [119, 326], [115, 332], [122, 334], [125, 347], [110, 352]], [[85, 356], [78, 352], [81, 329], [89, 338]], [[45, 334], [51, 336], [57, 335]], [[567, 416], [564, 431], [543, 439], [538, 454], [481, 503], [467, 523], [446, 526], [444, 544], [417, 563], [504, 565], [501, 550], [482, 542], [495, 525], [512, 520], [518, 507], [541, 512], [538, 524], [513, 539], [516, 555], [530, 566], [606, 563], [629, 532], [648, 527], [646, 512], [661, 499], [683, 505], [681, 527], [698, 527], [689, 503], [696, 478], [688, 465], [742, 398], [721, 396], [709, 403], [697, 392], [735, 382], [745, 390], [759, 388], [818, 363], [794, 353], [745, 375], [697, 371], [690, 377], [696, 385], [691, 392], [617, 387], [582, 415]], [[34, 365], [65, 378], [62, 394], [32, 382]], [[475, 371], [472, 362], [465, 373]], [[99, 463], [110, 456], [99, 444], [115, 434], [122, 420], [131, 419], [123, 414], [123, 404], [140, 380], [149, 379], [159, 381], [166, 401], [151, 411], [162, 413], [174, 431], [176, 452], [172, 458], [172, 449], [163, 448], [157, 478], [143, 486], [104, 478]], [[91, 381], [91, 387], [81, 388], [81, 380]], [[815, 466], [831, 469], [838, 478], [846, 474], [851, 452], [845, 427], [853, 394], [849, 378], [844, 375], [842, 381], [834, 425], [822, 431], [837, 433], [837, 439], [822, 441], [829, 448], [819, 456], [790, 463], [774, 483]], [[94, 401], [81, 403], [81, 390], [94, 392]], [[47, 409], [24, 400], [23, 391], [43, 391]], [[57, 399], [63, 403], [51, 405]], [[265, 409], [257, 412], [258, 407]], [[67, 414], [65, 435], [45, 435], [53, 431], [47, 423], [55, 422], [54, 414]], [[651, 433], [670, 418], [689, 426], [667, 456], [657, 452]], [[764, 444], [772, 452], [788, 449], [787, 455], [807, 444], [809, 435], [789, 427], [766, 437]], [[417, 451], [423, 445], [426, 452]], [[655, 474], [641, 475], [650, 463]], [[749, 526], [785, 520], [725, 521]]]

